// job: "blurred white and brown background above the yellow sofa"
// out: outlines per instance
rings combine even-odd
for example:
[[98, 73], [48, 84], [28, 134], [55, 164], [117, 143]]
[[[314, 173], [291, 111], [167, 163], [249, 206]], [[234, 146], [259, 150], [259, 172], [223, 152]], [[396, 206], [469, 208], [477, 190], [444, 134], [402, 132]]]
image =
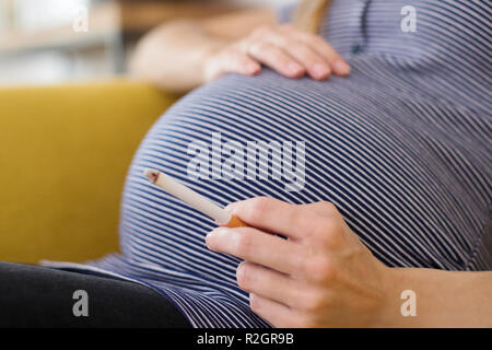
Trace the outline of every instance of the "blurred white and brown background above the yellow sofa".
[[290, 0], [0, 0], [0, 85], [122, 75], [153, 26]]

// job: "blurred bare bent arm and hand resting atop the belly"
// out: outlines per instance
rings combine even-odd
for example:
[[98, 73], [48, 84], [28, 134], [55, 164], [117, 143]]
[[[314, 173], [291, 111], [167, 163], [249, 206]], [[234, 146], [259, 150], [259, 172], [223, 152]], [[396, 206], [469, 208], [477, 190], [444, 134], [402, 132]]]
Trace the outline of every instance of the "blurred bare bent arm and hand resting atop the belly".
[[326, 40], [278, 25], [270, 10], [164, 24], [141, 40], [131, 68], [166, 91], [185, 92], [225, 73], [258, 74], [261, 66], [292, 79], [350, 73]]

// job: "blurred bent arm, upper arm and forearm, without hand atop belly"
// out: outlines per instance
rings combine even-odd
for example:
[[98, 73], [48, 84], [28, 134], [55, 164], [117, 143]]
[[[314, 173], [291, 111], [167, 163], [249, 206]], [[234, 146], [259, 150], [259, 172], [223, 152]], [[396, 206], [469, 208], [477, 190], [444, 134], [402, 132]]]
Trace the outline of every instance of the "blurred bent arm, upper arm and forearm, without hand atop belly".
[[211, 55], [276, 21], [271, 10], [256, 9], [169, 22], [139, 43], [131, 71], [166, 91], [186, 92], [206, 82], [204, 66]]

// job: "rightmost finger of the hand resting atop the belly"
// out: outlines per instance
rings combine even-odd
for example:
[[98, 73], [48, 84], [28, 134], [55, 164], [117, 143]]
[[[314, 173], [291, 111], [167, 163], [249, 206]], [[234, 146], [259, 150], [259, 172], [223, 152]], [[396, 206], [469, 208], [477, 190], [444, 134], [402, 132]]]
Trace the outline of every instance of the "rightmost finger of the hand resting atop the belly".
[[316, 50], [329, 63], [333, 73], [337, 75], [350, 74], [349, 63], [325, 39], [300, 31], [292, 31], [292, 35]]

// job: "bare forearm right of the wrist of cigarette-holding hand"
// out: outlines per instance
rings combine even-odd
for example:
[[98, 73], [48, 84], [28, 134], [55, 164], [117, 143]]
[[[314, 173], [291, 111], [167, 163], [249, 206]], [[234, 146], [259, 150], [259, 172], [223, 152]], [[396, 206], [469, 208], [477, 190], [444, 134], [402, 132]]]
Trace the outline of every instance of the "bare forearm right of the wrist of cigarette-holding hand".
[[[492, 272], [390, 269], [388, 327], [492, 327]], [[417, 316], [403, 316], [401, 292], [415, 293]]]

